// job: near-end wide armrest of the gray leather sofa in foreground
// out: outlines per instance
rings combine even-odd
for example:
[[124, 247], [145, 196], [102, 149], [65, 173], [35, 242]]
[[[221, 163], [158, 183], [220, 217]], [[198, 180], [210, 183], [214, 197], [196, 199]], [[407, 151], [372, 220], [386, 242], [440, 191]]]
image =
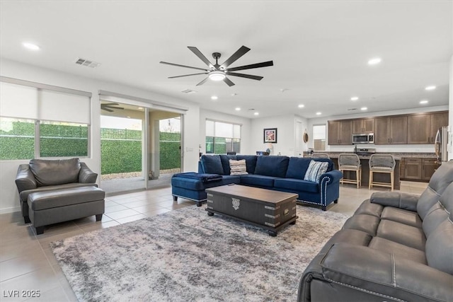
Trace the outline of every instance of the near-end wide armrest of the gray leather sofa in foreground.
[[338, 243], [320, 263], [323, 279], [404, 301], [453, 301], [453, 276], [381, 250]]

